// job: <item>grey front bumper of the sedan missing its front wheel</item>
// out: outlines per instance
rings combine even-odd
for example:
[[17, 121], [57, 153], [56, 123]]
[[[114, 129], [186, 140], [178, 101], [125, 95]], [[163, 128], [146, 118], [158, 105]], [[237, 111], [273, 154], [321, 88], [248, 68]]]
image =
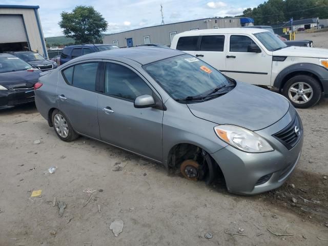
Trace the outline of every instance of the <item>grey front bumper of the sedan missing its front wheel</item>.
[[[303, 135], [291, 150], [272, 135], [288, 126], [295, 114], [291, 106], [274, 125], [256, 132], [270, 142], [272, 152], [247, 153], [227, 146], [211, 154], [223, 172], [229, 192], [254, 195], [276, 189], [288, 179], [300, 158]], [[265, 182], [259, 182], [263, 177]]]

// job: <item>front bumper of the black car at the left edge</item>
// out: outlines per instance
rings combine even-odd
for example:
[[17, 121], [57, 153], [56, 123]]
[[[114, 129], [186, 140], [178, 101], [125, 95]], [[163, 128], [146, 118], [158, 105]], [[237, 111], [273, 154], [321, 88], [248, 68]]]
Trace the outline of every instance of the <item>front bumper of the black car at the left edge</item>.
[[0, 106], [17, 106], [34, 101], [34, 90], [1, 90]]

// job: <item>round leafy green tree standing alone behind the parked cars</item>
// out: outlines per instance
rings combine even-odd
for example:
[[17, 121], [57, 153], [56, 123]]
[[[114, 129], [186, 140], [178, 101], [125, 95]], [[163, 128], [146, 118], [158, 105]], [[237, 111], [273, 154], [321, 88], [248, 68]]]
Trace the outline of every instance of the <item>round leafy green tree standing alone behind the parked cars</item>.
[[101, 38], [101, 32], [106, 31], [108, 23], [103, 15], [92, 6], [76, 6], [72, 13], [61, 12], [58, 23], [67, 37], [75, 39], [76, 43], [92, 43]]

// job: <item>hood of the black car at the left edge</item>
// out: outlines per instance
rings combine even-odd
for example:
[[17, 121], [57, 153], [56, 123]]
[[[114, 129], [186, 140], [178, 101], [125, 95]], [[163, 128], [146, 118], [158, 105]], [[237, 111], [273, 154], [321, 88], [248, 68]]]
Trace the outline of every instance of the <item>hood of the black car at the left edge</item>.
[[25, 86], [26, 83], [36, 83], [40, 73], [39, 70], [0, 73], [0, 85], [11, 88], [18, 85]]

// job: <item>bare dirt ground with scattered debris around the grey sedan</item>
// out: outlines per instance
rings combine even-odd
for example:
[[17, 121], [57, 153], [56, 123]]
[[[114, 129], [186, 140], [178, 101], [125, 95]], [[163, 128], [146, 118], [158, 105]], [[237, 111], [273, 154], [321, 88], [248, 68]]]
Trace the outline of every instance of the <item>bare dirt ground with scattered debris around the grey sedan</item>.
[[[0, 246], [327, 245], [328, 99], [298, 112], [305, 137], [292, 177], [244, 197], [95, 140], [61, 141], [33, 104], [1, 110]], [[54, 197], [67, 204], [63, 217]], [[109, 229], [115, 219], [124, 221], [118, 237]]]

